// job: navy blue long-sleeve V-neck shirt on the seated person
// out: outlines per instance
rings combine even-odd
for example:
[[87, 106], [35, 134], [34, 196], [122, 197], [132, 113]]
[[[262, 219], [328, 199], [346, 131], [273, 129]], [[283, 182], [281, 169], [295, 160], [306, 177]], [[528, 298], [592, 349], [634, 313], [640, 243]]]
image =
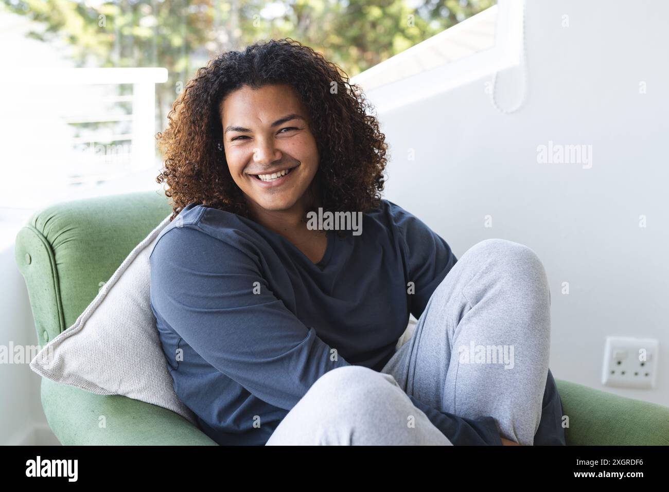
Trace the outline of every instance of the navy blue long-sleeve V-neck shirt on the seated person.
[[[151, 308], [175, 392], [221, 445], [264, 445], [325, 372], [381, 371], [457, 259], [394, 203], [362, 234], [328, 231], [312, 263], [282, 235], [191, 203], [151, 251]], [[415, 293], [407, 293], [412, 281]], [[491, 416], [462, 418], [409, 396], [454, 445], [500, 445]]]

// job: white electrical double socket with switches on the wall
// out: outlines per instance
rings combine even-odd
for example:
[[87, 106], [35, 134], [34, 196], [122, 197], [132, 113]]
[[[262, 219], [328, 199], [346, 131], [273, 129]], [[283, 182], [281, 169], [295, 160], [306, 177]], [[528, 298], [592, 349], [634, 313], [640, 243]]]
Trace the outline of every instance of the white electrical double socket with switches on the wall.
[[654, 338], [608, 336], [601, 384], [619, 388], [653, 388], [660, 343]]

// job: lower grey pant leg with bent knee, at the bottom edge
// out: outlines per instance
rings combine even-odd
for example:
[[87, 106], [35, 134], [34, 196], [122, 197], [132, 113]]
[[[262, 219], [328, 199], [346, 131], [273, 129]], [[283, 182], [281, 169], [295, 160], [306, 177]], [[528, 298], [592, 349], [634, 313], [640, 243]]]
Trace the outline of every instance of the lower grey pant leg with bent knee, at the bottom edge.
[[451, 442], [390, 374], [344, 366], [320, 376], [266, 445], [435, 445]]

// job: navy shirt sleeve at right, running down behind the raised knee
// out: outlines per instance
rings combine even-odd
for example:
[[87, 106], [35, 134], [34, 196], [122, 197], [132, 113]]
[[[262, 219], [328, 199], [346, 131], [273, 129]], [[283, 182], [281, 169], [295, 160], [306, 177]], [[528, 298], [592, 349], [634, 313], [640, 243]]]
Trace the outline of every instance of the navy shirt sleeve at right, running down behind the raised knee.
[[442, 282], [458, 259], [440, 235], [423, 221], [391, 201], [389, 211], [399, 231], [397, 239], [407, 265], [407, 282], [413, 282], [415, 292], [409, 297], [409, 311], [419, 319], [429, 297]]

